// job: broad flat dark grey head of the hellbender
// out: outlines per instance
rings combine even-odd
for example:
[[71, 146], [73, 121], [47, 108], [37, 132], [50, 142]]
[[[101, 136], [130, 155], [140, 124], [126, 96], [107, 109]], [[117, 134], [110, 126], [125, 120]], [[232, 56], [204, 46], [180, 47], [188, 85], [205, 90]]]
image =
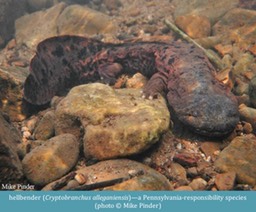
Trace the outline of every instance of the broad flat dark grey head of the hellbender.
[[233, 95], [212, 93], [184, 101], [174, 107], [178, 119], [198, 134], [220, 137], [234, 130], [239, 121], [238, 104]]

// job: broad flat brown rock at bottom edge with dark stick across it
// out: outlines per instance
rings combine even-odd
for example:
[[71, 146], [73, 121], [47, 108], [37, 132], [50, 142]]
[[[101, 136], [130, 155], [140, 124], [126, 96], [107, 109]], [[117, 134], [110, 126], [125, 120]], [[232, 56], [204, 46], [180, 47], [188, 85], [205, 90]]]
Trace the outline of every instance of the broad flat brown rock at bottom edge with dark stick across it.
[[[98, 188], [95, 187], [95, 189], [101, 190], [172, 190], [172, 186], [166, 177], [148, 166], [128, 159], [102, 161], [77, 170], [76, 176], [77, 175], [83, 176], [86, 179], [80, 186], [113, 181], [120, 178], [126, 179], [121, 183], [116, 182], [115, 185], [106, 183], [102, 186], [99, 185]], [[68, 177], [64, 176], [63, 178], [48, 184], [43, 190], [52, 190], [65, 178], [67, 179]], [[77, 177], [74, 178], [77, 179]], [[72, 180], [67, 182], [66, 186], [63, 186], [58, 190], [77, 190], [79, 184], [71, 181]], [[87, 190], [91, 190], [89, 189], [89, 186]]]

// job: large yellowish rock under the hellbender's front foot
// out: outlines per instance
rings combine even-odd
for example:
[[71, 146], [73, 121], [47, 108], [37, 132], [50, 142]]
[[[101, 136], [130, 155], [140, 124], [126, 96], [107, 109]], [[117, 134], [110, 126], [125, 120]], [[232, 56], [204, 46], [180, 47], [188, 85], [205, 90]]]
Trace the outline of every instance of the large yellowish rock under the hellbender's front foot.
[[164, 98], [141, 98], [138, 89], [100, 84], [74, 87], [56, 109], [56, 134], [83, 136], [84, 154], [100, 160], [138, 154], [167, 131], [170, 115]]

